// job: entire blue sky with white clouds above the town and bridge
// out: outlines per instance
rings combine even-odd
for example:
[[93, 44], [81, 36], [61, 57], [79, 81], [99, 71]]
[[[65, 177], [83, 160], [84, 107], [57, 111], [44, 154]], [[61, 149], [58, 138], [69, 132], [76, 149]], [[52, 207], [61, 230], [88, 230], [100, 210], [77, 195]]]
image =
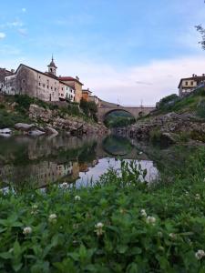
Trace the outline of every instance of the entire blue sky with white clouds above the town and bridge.
[[179, 79], [205, 73], [194, 25], [203, 0], [9, 0], [0, 7], [0, 67], [79, 76], [94, 95], [153, 106]]

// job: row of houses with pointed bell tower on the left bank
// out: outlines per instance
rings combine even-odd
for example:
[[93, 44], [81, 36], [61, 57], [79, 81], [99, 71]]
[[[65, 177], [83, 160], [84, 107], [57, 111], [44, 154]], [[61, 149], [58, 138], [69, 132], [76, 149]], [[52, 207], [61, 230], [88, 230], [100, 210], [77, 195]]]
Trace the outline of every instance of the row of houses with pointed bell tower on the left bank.
[[100, 100], [92, 96], [78, 76], [56, 76], [56, 64], [52, 56], [47, 72], [41, 72], [21, 64], [16, 71], [0, 68], [0, 93], [7, 95], [28, 95], [46, 102], [70, 101], [79, 103], [81, 99], [94, 101], [99, 106]]

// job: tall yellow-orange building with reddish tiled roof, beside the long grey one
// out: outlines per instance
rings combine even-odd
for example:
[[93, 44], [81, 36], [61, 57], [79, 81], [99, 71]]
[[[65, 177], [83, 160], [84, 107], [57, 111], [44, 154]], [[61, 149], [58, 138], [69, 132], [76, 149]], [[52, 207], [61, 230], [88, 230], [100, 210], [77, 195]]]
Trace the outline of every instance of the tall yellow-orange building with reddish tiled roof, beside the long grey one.
[[83, 84], [79, 81], [78, 76], [76, 78], [72, 76], [59, 76], [58, 79], [75, 90], [75, 101], [79, 103], [82, 98]]

